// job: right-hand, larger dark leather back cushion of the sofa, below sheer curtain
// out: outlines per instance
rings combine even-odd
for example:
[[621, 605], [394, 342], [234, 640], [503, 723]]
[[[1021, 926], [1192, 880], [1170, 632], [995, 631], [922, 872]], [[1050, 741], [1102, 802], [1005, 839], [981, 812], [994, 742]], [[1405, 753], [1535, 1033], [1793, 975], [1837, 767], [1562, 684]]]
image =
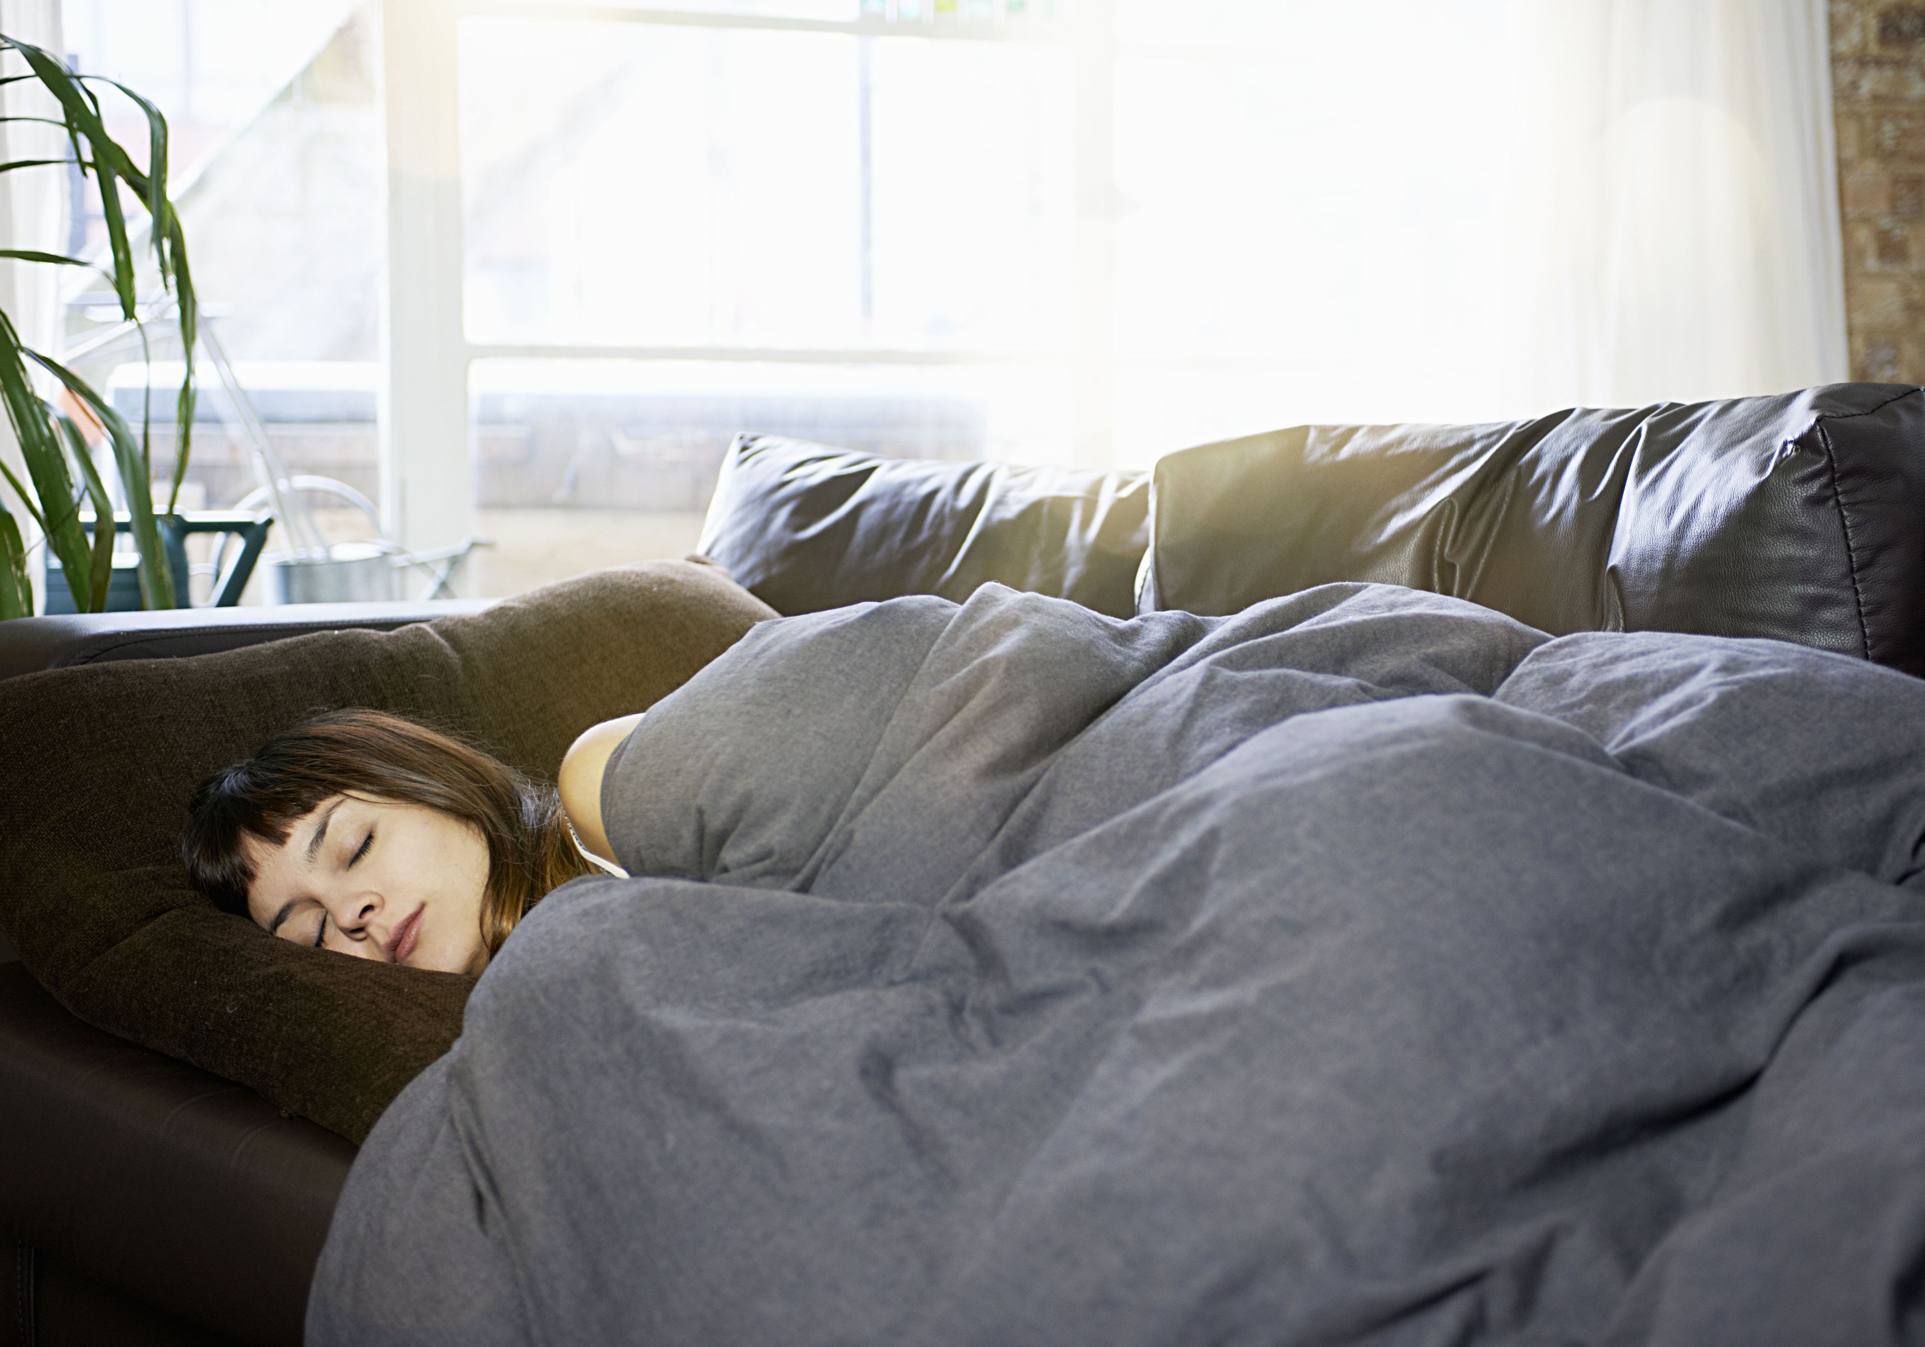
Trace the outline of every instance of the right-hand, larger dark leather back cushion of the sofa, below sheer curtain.
[[1238, 612], [1340, 579], [1552, 633], [1777, 637], [1925, 674], [1925, 391], [1311, 425], [1155, 468], [1138, 604]]

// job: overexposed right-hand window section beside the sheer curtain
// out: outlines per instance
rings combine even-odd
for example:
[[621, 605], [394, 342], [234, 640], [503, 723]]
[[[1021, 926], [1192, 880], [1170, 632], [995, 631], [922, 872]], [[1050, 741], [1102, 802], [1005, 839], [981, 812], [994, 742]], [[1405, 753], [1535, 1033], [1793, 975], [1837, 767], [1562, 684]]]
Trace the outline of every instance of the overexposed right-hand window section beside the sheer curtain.
[[1118, 460], [1305, 421], [1521, 414], [1492, 379], [1515, 246], [1503, 6], [1115, 15]]

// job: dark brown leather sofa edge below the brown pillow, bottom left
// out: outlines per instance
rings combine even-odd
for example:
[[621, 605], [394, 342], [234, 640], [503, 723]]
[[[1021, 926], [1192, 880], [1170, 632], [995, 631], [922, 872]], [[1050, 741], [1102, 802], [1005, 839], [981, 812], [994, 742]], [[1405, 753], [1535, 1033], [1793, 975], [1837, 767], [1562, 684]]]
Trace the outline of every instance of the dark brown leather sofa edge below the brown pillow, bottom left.
[[239, 1343], [300, 1341], [354, 1147], [0, 966], [0, 1233]]

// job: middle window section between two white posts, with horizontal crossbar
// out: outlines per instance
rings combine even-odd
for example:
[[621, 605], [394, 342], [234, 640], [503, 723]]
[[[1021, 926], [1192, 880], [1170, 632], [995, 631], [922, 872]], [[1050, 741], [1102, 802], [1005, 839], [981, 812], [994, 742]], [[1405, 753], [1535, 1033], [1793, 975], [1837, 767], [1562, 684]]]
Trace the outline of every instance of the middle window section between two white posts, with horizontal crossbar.
[[1020, 6], [504, 8], [456, 6], [485, 583], [533, 577], [539, 537], [556, 543], [535, 570], [581, 539], [610, 560], [689, 550], [743, 429], [1070, 452], [1061, 25]]

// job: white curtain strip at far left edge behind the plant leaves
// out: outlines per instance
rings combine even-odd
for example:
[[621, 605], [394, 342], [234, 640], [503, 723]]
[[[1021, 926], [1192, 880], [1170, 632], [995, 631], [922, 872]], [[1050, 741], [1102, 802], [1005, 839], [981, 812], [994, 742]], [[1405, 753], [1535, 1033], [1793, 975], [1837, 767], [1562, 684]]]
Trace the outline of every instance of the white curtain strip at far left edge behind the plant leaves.
[[[56, 56], [62, 56], [60, 40], [60, 0], [0, 0], [0, 33], [21, 42], [31, 42]], [[13, 75], [25, 69], [12, 52], [0, 62], [0, 73]], [[54, 100], [31, 81], [6, 85], [0, 90], [0, 108], [10, 115], [58, 115]], [[0, 123], [0, 162], [13, 160], [54, 160], [71, 154], [60, 127], [35, 121]], [[0, 239], [8, 248], [37, 248], [42, 252], [67, 250], [67, 171], [65, 167], [37, 167], [0, 173]], [[58, 267], [29, 262], [0, 262], [0, 312], [13, 321], [21, 341], [35, 350], [56, 352], [60, 339], [60, 283]], [[21, 481], [27, 479], [19, 445], [12, 429], [0, 418], [0, 458]], [[0, 500], [13, 514], [29, 546], [37, 541], [33, 520], [21, 502], [0, 479]], [[35, 602], [42, 597], [44, 560], [33, 556]]]

